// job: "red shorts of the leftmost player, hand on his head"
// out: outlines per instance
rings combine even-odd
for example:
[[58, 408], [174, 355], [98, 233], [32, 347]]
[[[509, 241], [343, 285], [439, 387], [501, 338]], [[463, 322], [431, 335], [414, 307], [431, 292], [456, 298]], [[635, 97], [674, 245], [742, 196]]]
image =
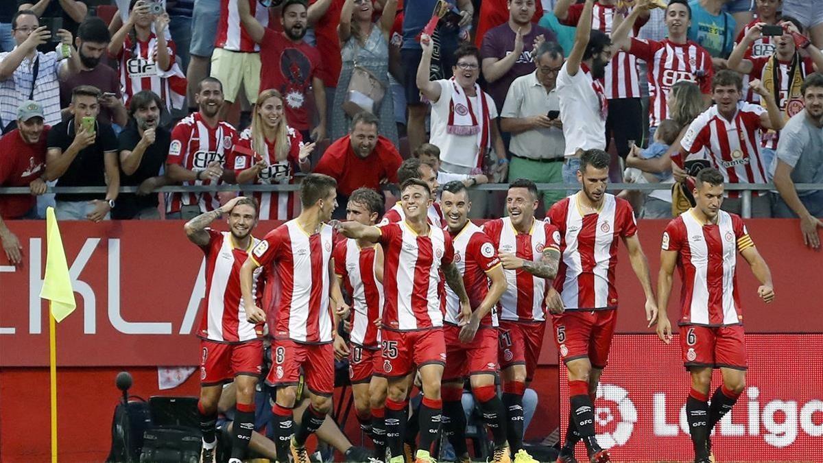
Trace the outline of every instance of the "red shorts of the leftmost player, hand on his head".
[[263, 341], [239, 344], [200, 340], [200, 384], [216, 386], [237, 375], [259, 376], [263, 368]]

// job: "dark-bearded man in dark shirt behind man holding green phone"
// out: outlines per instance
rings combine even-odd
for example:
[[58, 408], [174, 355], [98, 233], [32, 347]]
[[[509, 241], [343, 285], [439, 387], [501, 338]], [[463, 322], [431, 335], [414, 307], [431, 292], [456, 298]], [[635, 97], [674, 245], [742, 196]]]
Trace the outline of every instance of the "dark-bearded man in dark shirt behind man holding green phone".
[[[126, 106], [123, 105], [120, 81], [117, 71], [108, 64], [100, 63], [109, 48], [109, 28], [97, 16], [92, 16], [77, 29], [77, 54], [80, 55], [80, 72], [60, 82], [60, 105], [67, 108], [72, 99], [72, 88], [79, 85], [93, 85], [100, 89], [100, 114], [97, 120], [106, 124], [125, 127], [128, 123]], [[67, 109], [63, 110], [67, 115]]]

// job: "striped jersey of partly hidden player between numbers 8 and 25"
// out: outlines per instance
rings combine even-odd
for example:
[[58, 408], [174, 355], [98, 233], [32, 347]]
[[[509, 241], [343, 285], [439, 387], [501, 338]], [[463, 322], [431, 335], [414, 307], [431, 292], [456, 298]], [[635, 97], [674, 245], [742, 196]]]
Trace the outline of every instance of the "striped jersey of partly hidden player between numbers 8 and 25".
[[377, 276], [377, 245], [360, 248], [347, 238], [334, 246], [334, 274], [351, 295], [351, 342], [364, 348], [380, 347], [380, 330], [374, 320], [383, 315], [383, 283]]

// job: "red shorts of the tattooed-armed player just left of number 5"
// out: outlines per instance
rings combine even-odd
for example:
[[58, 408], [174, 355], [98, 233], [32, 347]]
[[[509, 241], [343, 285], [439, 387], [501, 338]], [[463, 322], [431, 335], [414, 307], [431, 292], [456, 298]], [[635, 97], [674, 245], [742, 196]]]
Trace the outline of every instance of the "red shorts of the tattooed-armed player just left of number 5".
[[546, 324], [523, 323], [517, 321], [500, 320], [500, 369], [505, 370], [513, 365], [526, 366], [526, 380], [532, 381], [534, 371], [537, 370], [537, 358], [543, 347], [543, 333]]

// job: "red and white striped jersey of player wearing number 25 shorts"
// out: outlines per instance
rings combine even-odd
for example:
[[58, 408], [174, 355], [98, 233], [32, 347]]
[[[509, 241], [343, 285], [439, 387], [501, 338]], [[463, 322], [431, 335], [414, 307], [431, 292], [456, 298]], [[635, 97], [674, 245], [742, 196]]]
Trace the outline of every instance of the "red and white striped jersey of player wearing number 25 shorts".
[[432, 226], [427, 236], [419, 236], [405, 221], [379, 229], [385, 252], [384, 328], [411, 331], [442, 326], [439, 269], [454, 259], [451, 236]]

